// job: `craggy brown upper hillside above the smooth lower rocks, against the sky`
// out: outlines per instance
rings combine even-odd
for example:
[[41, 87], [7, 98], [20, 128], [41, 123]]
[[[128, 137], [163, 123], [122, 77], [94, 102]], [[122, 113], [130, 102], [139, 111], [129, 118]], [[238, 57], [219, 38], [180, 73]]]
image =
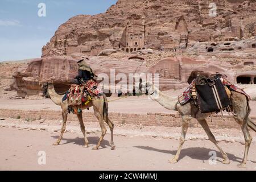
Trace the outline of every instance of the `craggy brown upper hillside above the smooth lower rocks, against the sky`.
[[62, 24], [42, 48], [42, 57], [95, 56], [109, 48], [131, 52], [136, 48], [127, 46], [130, 32], [134, 39], [141, 36], [144, 47], [165, 51], [195, 42], [247, 39], [256, 35], [255, 14], [255, 0], [119, 0], [104, 14], [78, 15]]

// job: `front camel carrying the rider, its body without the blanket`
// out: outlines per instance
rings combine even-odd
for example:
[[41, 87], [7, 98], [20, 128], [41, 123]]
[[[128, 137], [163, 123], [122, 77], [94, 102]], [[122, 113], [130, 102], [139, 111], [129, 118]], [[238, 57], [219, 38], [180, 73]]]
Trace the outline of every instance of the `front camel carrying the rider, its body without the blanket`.
[[[60, 137], [59, 139], [57, 139], [56, 143], [53, 143], [53, 145], [59, 145], [61, 138], [63, 137], [63, 134], [65, 132], [65, 127], [66, 127], [66, 123], [67, 123], [67, 118], [68, 118], [68, 101], [62, 101], [64, 96], [60, 96], [59, 94], [57, 94], [55, 92], [54, 86], [52, 84], [49, 84], [47, 86], [47, 93], [49, 95], [49, 97], [51, 98], [51, 100], [56, 104], [61, 106], [62, 109], [62, 117], [63, 117], [63, 125], [61, 127], [61, 133], [60, 133]], [[111, 141], [110, 141], [110, 146], [111, 146], [111, 150], [114, 150], [115, 146], [114, 146], [114, 142], [113, 142], [113, 130], [114, 130], [114, 123], [112, 121], [110, 121], [109, 117], [108, 117], [108, 100], [105, 96], [105, 93], [102, 96], [99, 97], [92, 97], [92, 101], [89, 102], [88, 105], [83, 105], [82, 106], [82, 110], [84, 109], [88, 109], [89, 107], [93, 107], [94, 110], [94, 115], [96, 116], [96, 118], [98, 119], [98, 121], [100, 122], [100, 127], [101, 127], [101, 137], [100, 140], [98, 141], [98, 144], [96, 147], [93, 147], [93, 150], [98, 150], [98, 148], [100, 147], [100, 144], [106, 134], [106, 127], [104, 125], [104, 121], [108, 124], [110, 132], [111, 132]], [[84, 122], [82, 119], [82, 113], [77, 114], [77, 118], [79, 119], [80, 122], [80, 128], [82, 131], [82, 134], [84, 135], [84, 141], [85, 141], [85, 145], [83, 147], [89, 147], [89, 141], [86, 137], [86, 130], [85, 130], [85, 126], [84, 126]]]

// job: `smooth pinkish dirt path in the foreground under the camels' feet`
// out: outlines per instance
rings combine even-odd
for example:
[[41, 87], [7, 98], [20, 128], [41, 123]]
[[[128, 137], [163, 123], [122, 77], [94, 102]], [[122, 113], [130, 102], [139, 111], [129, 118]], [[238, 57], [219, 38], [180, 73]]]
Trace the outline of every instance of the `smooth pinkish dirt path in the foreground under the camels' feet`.
[[[0, 169], [19, 170], [241, 170], [236, 165], [242, 160], [244, 146], [240, 143], [220, 142], [231, 164], [209, 164], [208, 155], [216, 147], [209, 140], [188, 140], [177, 164], [167, 161], [175, 155], [176, 139], [148, 138], [115, 135], [116, 150], [109, 147], [107, 134], [98, 151], [92, 147], [98, 142], [98, 134], [88, 135], [89, 148], [83, 148], [82, 134], [65, 133], [60, 146], [52, 146], [59, 133], [37, 130], [18, 130], [0, 127]], [[38, 152], [46, 152], [46, 165], [38, 164]], [[247, 170], [256, 170], [256, 146], [251, 145]], [[242, 170], [246, 170], [242, 169]]]

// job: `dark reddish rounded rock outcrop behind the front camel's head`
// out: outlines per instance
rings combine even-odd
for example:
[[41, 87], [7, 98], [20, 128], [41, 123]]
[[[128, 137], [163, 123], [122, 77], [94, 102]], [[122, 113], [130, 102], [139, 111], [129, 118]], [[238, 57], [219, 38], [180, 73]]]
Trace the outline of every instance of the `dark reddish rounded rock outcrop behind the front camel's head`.
[[70, 57], [47, 57], [31, 60], [27, 68], [20, 68], [14, 74], [14, 87], [19, 97], [43, 96], [42, 85], [53, 82], [56, 91], [68, 90], [71, 78], [77, 75], [78, 65]]

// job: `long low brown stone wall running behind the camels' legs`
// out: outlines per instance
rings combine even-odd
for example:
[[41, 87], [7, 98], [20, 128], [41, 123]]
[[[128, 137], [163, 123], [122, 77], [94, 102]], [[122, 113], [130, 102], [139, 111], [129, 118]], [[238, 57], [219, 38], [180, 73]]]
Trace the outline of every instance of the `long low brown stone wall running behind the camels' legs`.
[[[62, 119], [61, 111], [53, 110], [11, 110], [0, 109], [1, 117], [8, 118], [22, 118], [22, 119]], [[85, 122], [98, 122], [94, 113], [91, 111], [84, 111], [83, 113]], [[143, 126], [166, 126], [166, 127], [180, 127], [181, 117], [179, 114], [169, 113], [147, 113], [147, 114], [129, 114], [129, 113], [109, 113], [109, 118], [114, 123], [127, 123]], [[207, 119], [208, 124], [212, 128], [236, 128], [240, 129], [240, 126], [234, 121], [232, 116], [225, 115], [225, 121], [221, 115], [213, 115], [213, 121], [210, 122], [210, 118]], [[256, 116], [251, 116], [254, 122], [256, 122]], [[68, 115], [69, 121], [76, 121], [77, 117], [74, 114]], [[201, 127], [196, 119], [192, 119], [190, 127]]]

